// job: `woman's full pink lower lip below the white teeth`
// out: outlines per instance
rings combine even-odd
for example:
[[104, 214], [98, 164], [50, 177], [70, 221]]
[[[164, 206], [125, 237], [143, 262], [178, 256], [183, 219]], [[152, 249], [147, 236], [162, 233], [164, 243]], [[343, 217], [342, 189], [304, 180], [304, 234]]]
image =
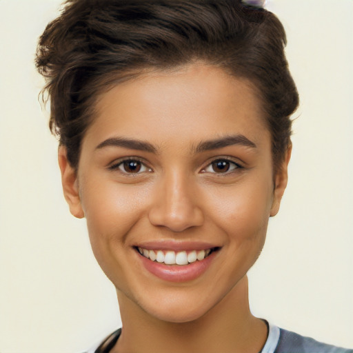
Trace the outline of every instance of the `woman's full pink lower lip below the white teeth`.
[[189, 265], [165, 265], [156, 261], [151, 261], [145, 256], [137, 253], [137, 256], [141, 259], [143, 266], [148, 272], [154, 274], [154, 276], [163, 279], [163, 281], [171, 282], [187, 282], [201, 276], [210, 267], [216, 252], [212, 252], [202, 261], [195, 261], [189, 263]]

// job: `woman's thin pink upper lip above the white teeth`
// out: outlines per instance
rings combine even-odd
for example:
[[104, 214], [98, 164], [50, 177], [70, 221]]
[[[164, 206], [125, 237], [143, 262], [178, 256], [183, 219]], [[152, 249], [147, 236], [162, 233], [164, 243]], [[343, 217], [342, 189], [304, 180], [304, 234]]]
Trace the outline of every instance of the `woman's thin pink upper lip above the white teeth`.
[[146, 250], [172, 250], [175, 252], [192, 251], [192, 250], [208, 250], [212, 248], [221, 248], [219, 245], [207, 243], [203, 241], [142, 241], [135, 245], [137, 248]]

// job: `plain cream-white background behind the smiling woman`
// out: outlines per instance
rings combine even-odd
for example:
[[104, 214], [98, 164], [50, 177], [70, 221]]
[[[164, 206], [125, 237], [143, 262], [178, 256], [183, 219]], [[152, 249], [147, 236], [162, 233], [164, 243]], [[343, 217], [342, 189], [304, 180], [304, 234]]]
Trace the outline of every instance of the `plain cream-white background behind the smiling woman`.
[[[74, 353], [121, 324], [61, 193], [34, 48], [58, 0], [0, 0], [0, 352]], [[272, 0], [301, 94], [290, 181], [250, 270], [254, 314], [353, 347], [352, 0]]]

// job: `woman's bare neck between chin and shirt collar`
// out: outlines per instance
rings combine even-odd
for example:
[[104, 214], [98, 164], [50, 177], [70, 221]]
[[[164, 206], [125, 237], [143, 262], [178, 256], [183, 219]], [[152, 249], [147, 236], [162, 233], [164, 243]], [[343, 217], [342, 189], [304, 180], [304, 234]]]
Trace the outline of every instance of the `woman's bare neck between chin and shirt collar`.
[[123, 330], [112, 353], [259, 353], [267, 338], [263, 321], [252, 316], [245, 276], [211, 310], [186, 323], [170, 323], [146, 313], [118, 292]]

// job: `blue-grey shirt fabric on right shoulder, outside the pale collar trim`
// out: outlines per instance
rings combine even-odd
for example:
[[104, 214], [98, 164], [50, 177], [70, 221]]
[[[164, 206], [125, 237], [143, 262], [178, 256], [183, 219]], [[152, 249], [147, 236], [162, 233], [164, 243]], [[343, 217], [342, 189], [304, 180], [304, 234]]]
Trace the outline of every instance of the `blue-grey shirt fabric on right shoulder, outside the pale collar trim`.
[[274, 353], [353, 353], [353, 350], [327, 345], [300, 334], [280, 329]]

